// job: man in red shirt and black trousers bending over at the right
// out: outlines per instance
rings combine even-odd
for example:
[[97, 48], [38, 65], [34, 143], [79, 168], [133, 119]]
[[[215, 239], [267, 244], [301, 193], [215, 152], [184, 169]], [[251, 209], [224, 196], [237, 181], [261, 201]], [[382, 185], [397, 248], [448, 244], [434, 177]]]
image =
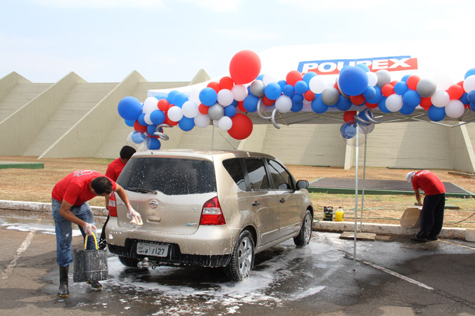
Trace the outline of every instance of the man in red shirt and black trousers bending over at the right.
[[[411, 237], [414, 242], [437, 240], [442, 230], [443, 210], [445, 207], [445, 186], [441, 179], [429, 170], [407, 173], [406, 180], [412, 184], [417, 203], [422, 205], [421, 230]], [[421, 203], [419, 188], [424, 190], [424, 204]]]

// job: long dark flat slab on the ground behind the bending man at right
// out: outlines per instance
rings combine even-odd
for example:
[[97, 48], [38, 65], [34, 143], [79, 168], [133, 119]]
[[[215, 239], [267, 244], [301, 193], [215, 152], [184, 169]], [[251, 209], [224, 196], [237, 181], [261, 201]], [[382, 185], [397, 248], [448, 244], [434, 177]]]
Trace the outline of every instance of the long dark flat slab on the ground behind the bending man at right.
[[[451, 182], [444, 182], [445, 190], [448, 193], [462, 193], [473, 195], [472, 192], [465, 190]], [[336, 189], [355, 189], [355, 179], [343, 178], [319, 178], [310, 183], [310, 187], [332, 187]], [[358, 187], [363, 187], [363, 179], [358, 179]], [[365, 190], [384, 190], [384, 191], [412, 191], [412, 185], [405, 180], [365, 180]]]

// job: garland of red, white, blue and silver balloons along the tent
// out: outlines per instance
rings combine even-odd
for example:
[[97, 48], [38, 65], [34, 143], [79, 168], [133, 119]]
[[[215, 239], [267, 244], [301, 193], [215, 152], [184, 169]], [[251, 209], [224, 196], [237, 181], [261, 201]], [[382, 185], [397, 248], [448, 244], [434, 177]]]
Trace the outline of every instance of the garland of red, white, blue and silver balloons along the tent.
[[[462, 117], [465, 109], [475, 110], [475, 68], [465, 74], [464, 81], [452, 84], [450, 79], [421, 79], [407, 75], [400, 81], [391, 81], [387, 70], [371, 72], [365, 64], [345, 66], [338, 79], [327, 82], [315, 72], [302, 74], [292, 70], [285, 80], [277, 81], [260, 74], [261, 62], [253, 51], [240, 51], [229, 63], [229, 77], [211, 81], [205, 88], [194, 88], [189, 94], [171, 91], [167, 95], [148, 97], [142, 104], [137, 98], [120, 100], [118, 112], [134, 132], [137, 141], [147, 143], [148, 149], [160, 148], [160, 140], [167, 139], [163, 126], [178, 125], [183, 131], [194, 126], [205, 128], [213, 124], [229, 136], [242, 140], [251, 135], [253, 123], [247, 112], [258, 112], [262, 107], [277, 112], [300, 112], [304, 107], [322, 114], [330, 108], [343, 111], [341, 136], [350, 139], [358, 124], [362, 133], [374, 129], [372, 112], [400, 112], [409, 115], [417, 106], [427, 111], [431, 121], [445, 116]], [[440, 81], [440, 82], [439, 82]], [[361, 107], [357, 110], [354, 106]], [[352, 111], [350, 108], [353, 107]], [[347, 124], [347, 125], [346, 125]], [[350, 126], [351, 125], [351, 126]], [[279, 128], [277, 124], [274, 126]]]

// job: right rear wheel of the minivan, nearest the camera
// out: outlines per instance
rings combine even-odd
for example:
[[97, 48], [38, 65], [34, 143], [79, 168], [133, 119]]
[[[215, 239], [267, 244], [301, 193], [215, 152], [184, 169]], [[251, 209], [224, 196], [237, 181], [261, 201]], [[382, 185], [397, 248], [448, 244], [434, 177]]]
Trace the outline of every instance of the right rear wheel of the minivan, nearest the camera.
[[224, 268], [232, 281], [242, 281], [251, 275], [254, 264], [254, 239], [251, 232], [243, 230], [234, 246], [231, 261]]

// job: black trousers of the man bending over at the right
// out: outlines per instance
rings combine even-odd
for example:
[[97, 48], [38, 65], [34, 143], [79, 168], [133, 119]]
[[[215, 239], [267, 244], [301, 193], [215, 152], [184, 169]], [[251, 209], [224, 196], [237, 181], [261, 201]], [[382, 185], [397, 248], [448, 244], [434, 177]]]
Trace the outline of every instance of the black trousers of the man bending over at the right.
[[426, 195], [422, 204], [421, 230], [419, 238], [436, 237], [442, 230], [445, 193], [440, 195]]

